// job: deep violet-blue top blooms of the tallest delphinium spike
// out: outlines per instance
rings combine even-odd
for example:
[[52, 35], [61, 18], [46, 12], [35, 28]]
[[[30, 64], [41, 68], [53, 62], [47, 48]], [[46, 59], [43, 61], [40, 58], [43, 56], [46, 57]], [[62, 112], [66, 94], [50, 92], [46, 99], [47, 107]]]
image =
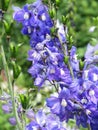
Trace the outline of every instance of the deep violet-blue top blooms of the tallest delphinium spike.
[[42, 42], [46, 34], [50, 33], [53, 23], [48, 15], [48, 8], [42, 4], [41, 0], [33, 4], [26, 4], [22, 9], [14, 7], [13, 18], [22, 23], [22, 33], [30, 36], [31, 46]]

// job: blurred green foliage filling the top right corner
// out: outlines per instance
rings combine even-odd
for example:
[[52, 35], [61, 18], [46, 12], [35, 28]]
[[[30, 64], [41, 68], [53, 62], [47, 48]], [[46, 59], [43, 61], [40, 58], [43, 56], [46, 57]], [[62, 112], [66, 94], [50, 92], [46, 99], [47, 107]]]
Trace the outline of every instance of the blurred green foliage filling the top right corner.
[[97, 0], [62, 0], [58, 16], [62, 15], [69, 18], [68, 31], [73, 36], [77, 47], [88, 44], [91, 38], [97, 38], [97, 31], [89, 32], [91, 26], [98, 25], [98, 3]]

